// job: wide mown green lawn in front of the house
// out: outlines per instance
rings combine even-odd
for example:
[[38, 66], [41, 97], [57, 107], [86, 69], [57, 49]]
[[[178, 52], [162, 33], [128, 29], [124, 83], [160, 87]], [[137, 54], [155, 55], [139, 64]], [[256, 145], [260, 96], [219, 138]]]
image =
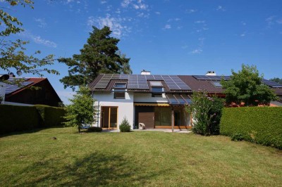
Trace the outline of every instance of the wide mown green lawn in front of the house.
[[0, 137], [0, 186], [282, 186], [281, 150], [225, 136], [70, 127]]

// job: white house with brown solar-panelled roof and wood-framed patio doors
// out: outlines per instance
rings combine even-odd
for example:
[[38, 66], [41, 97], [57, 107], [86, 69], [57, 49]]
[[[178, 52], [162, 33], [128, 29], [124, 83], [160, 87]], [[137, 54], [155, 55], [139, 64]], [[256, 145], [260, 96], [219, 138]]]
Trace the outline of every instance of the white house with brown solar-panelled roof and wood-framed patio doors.
[[[224, 76], [228, 80], [230, 77]], [[207, 91], [224, 97], [221, 76], [207, 75], [99, 75], [89, 85], [98, 108], [96, 127], [115, 129], [126, 117], [132, 129], [140, 123], [147, 129], [192, 127], [192, 115], [185, 110], [193, 91]], [[263, 80], [282, 98], [282, 85]]]

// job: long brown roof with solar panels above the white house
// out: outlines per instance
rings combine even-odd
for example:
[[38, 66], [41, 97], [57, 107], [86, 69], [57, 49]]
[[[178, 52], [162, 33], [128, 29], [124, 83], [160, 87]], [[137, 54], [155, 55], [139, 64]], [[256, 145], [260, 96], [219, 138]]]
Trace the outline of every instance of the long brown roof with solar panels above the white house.
[[[230, 79], [224, 76], [224, 79]], [[152, 90], [150, 82], [161, 82], [166, 93], [191, 93], [192, 91], [207, 91], [208, 93], [223, 93], [219, 82], [221, 76], [206, 75], [99, 75], [89, 85], [92, 91], [112, 91], [116, 82], [127, 83], [128, 91], [147, 92]], [[262, 82], [274, 89], [277, 95], [282, 95], [282, 85], [263, 79]]]

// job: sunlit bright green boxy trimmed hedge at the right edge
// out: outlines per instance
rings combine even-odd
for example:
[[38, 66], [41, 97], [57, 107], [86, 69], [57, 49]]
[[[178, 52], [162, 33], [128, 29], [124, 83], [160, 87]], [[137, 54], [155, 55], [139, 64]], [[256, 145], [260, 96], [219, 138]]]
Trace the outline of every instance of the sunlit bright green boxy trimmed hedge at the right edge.
[[282, 107], [223, 108], [220, 133], [282, 149]]

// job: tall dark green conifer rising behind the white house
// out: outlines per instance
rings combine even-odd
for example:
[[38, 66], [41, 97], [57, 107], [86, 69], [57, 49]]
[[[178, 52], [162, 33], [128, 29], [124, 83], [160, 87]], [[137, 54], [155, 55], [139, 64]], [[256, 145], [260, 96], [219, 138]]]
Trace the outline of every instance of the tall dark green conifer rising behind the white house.
[[80, 49], [80, 54], [73, 55], [73, 58], [60, 58], [59, 62], [68, 65], [68, 76], [60, 81], [64, 87], [81, 85], [84, 82], [90, 84], [100, 73], [131, 74], [129, 60], [118, 51], [118, 41], [110, 37], [109, 27], [99, 30], [93, 27], [87, 44]]

